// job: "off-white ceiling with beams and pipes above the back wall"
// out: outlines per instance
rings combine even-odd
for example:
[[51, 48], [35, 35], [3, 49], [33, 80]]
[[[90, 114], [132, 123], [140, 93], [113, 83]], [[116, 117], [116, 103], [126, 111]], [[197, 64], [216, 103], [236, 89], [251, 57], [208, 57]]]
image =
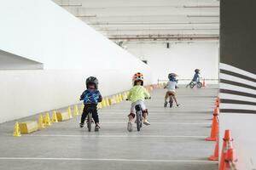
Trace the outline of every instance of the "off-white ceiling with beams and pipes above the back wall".
[[54, 0], [113, 41], [218, 41], [218, 0]]

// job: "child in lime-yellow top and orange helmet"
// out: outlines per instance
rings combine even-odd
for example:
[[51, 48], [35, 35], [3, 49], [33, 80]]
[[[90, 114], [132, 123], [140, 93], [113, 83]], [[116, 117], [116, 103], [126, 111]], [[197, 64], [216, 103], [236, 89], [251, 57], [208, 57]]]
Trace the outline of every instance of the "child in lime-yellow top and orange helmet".
[[132, 131], [132, 120], [135, 117], [135, 106], [141, 105], [142, 111], [143, 111], [143, 124], [150, 125], [150, 123], [147, 120], [148, 116], [148, 109], [146, 109], [146, 106], [144, 104], [144, 99], [149, 99], [150, 94], [148, 94], [148, 91], [146, 88], [143, 87], [143, 74], [137, 72], [133, 78], [133, 88], [129, 91], [129, 94], [127, 96], [127, 99], [131, 101], [131, 113], [128, 115], [129, 121], [127, 130], [129, 132]]

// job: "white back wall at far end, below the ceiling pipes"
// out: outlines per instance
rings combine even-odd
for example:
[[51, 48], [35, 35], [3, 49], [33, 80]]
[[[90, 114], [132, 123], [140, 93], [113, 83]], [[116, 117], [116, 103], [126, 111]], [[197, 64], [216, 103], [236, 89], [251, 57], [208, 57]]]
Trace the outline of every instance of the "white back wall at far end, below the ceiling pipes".
[[148, 60], [154, 82], [166, 80], [170, 72], [176, 72], [179, 79], [190, 79], [195, 68], [201, 69], [201, 77], [218, 79], [218, 42], [170, 42], [170, 48], [166, 43], [128, 42], [126, 46], [131, 54]]

